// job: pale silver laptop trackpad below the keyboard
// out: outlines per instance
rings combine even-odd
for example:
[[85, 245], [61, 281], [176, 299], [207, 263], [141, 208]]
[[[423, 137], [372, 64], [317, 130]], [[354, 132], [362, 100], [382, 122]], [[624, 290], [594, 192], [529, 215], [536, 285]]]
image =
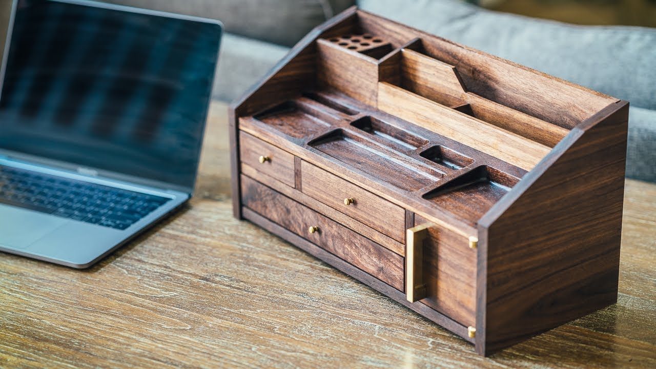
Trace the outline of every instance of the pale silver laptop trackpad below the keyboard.
[[0, 204], [0, 246], [27, 248], [68, 221], [54, 215]]

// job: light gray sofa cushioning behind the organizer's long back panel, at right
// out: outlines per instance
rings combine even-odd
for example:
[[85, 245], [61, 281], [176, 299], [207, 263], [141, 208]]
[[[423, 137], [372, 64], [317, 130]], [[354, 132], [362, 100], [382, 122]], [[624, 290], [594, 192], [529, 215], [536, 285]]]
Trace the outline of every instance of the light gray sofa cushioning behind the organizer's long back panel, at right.
[[358, 0], [365, 11], [628, 100], [626, 175], [656, 181], [656, 30], [573, 26], [457, 0]]

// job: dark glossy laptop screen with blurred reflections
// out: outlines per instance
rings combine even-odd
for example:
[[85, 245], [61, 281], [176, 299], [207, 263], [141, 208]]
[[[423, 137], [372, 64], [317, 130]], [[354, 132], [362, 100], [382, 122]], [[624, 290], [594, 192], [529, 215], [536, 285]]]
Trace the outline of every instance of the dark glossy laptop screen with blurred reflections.
[[19, 0], [0, 148], [192, 188], [220, 32], [197, 18]]

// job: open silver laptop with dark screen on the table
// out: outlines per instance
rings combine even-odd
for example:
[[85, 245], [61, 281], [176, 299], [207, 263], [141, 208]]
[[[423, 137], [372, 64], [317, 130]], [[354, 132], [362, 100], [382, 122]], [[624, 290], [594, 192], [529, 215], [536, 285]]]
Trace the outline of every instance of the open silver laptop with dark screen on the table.
[[90, 267], [192, 196], [222, 26], [14, 0], [7, 33], [0, 251]]

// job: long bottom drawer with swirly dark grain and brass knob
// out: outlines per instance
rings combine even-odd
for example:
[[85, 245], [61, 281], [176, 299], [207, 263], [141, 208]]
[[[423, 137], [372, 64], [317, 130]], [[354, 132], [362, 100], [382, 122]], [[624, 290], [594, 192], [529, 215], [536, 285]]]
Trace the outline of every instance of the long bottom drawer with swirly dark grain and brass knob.
[[241, 176], [242, 204], [403, 291], [403, 257], [287, 196]]

